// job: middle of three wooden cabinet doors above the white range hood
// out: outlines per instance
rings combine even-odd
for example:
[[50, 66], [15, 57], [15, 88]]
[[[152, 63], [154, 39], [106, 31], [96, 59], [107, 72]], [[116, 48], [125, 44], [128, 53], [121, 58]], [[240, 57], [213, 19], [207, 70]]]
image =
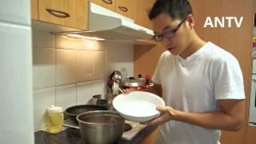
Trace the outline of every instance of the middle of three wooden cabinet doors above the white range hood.
[[118, 14], [122, 14], [128, 18], [134, 19], [135, 6], [135, 0], [116, 0], [115, 12]]

